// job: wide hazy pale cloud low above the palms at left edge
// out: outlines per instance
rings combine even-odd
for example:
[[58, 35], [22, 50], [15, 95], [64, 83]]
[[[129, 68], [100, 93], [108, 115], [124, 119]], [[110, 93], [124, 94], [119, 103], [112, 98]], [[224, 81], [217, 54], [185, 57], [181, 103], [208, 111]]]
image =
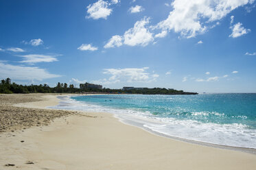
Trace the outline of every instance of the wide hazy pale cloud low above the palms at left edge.
[[0, 62], [0, 77], [1, 79], [10, 77], [13, 80], [45, 80], [49, 78], [60, 77], [49, 73], [45, 69], [40, 69], [35, 66], [16, 66], [11, 64], [4, 64]]

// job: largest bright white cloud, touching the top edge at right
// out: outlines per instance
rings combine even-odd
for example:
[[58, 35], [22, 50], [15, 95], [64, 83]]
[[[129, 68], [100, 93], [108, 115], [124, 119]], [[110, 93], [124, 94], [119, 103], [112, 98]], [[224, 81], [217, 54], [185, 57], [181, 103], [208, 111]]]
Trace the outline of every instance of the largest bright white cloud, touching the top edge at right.
[[254, 0], [174, 0], [167, 19], [155, 28], [181, 33], [191, 38], [207, 32], [213, 22], [220, 21], [236, 8], [253, 3]]

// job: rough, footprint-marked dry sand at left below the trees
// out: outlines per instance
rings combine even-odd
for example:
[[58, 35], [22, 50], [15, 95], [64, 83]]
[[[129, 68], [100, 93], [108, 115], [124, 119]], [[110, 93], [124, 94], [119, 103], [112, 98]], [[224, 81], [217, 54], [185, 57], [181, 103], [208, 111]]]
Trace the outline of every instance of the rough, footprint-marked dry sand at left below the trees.
[[[30, 106], [32, 101], [34, 104], [37, 104], [36, 101], [38, 101], [41, 106]], [[58, 100], [54, 95], [0, 95], [0, 132], [14, 132], [14, 130], [25, 130], [27, 127], [48, 125], [57, 117], [67, 117], [75, 113], [44, 109], [45, 106], [56, 104], [58, 104]]]

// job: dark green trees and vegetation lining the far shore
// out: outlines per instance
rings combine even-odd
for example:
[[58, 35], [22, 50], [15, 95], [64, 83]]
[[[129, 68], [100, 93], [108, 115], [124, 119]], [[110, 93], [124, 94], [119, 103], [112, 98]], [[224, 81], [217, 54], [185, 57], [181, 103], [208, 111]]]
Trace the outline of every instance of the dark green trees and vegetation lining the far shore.
[[60, 83], [56, 87], [49, 87], [47, 84], [21, 85], [12, 83], [10, 78], [1, 80], [0, 93], [117, 93], [117, 94], [143, 94], [143, 95], [196, 95], [198, 93], [183, 92], [167, 88], [139, 88], [132, 90], [110, 89], [110, 88], [75, 88], [73, 84]]

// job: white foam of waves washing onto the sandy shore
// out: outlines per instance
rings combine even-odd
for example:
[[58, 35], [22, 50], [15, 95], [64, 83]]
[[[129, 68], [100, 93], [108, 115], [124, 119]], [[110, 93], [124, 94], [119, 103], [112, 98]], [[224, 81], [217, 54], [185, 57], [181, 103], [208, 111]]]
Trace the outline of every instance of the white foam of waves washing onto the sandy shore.
[[[65, 110], [84, 110], [87, 112], [110, 112], [118, 119], [132, 125], [146, 127], [160, 134], [185, 138], [193, 141], [226, 145], [232, 147], [247, 147], [256, 149], [256, 130], [249, 129], [246, 125], [238, 123], [218, 124], [202, 123], [194, 120], [179, 120], [167, 117], [157, 117], [150, 112], [124, 110], [108, 106], [87, 104], [75, 101], [70, 97], [61, 97], [60, 104], [51, 108]], [[194, 114], [205, 114], [195, 112]]]

